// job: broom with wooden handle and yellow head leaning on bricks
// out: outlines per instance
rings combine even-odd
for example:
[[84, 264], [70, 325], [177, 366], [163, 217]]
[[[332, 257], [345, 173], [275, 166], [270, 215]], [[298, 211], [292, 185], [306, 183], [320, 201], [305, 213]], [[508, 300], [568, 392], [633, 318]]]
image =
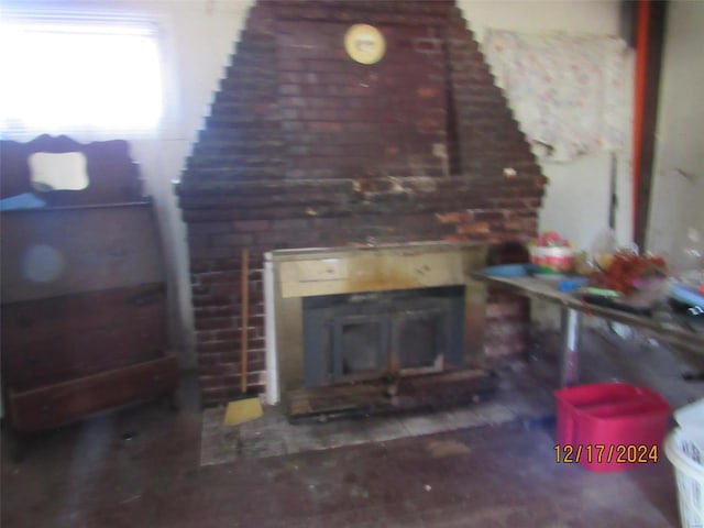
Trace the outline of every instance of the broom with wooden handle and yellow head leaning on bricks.
[[242, 395], [239, 399], [232, 400], [228, 404], [228, 408], [224, 413], [223, 424], [226, 426], [235, 426], [243, 421], [253, 420], [262, 416], [262, 404], [257, 396], [248, 396], [246, 394], [246, 340], [249, 324], [249, 311], [250, 311], [250, 251], [248, 249], [242, 250], [242, 320], [241, 320], [241, 339], [242, 345], [240, 346], [240, 392]]

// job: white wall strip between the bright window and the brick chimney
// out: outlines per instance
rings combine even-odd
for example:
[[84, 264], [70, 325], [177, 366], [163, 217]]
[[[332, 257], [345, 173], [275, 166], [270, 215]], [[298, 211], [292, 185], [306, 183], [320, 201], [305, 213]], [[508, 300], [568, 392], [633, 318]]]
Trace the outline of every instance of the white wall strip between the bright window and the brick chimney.
[[[99, 2], [100, 0], [94, 0]], [[155, 197], [169, 276], [170, 333], [184, 367], [195, 365], [194, 317], [186, 226], [174, 194], [176, 182], [202, 128], [218, 82], [246, 20], [250, 0], [112, 0], [111, 7], [153, 16], [164, 37], [170, 87], [167, 121], [158, 139], [131, 141], [147, 190]]]

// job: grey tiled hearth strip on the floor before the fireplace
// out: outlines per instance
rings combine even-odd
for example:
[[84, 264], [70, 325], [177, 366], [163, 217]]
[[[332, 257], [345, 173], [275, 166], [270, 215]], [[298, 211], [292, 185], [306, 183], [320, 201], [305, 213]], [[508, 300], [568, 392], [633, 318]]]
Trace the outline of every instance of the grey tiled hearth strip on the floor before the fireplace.
[[[345, 446], [387, 442], [481, 426], [520, 420], [526, 427], [553, 417], [552, 393], [546, 387], [503, 389], [470, 406], [397, 416], [341, 418], [328, 422], [315, 419], [290, 424], [279, 406], [265, 406], [262, 418], [224, 426], [222, 408], [204, 410], [200, 464], [320, 451]], [[520, 395], [520, 397], [519, 397]]]

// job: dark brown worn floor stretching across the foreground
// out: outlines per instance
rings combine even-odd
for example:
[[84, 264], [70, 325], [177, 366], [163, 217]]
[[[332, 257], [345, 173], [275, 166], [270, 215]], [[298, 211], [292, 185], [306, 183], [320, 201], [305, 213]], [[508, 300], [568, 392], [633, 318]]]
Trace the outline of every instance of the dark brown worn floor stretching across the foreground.
[[[640, 338], [604, 336], [590, 332], [584, 340], [585, 382], [648, 382], [675, 407], [704, 396], [702, 382], [681, 378], [701, 365]], [[543, 336], [540, 343], [527, 364], [502, 373], [496, 398], [480, 404], [503, 409], [504, 417], [513, 409], [508, 419], [484, 411], [484, 420], [415, 435], [406, 428], [408, 435], [356, 443], [353, 430], [369, 431], [363, 421], [326, 424], [315, 435], [338, 440], [319, 449], [237, 460], [201, 459], [207, 413], [195, 378], [185, 376], [179, 413], [150, 403], [96, 417], [37, 438], [20, 463], [10, 460], [3, 442], [1, 526], [679, 526], [664, 453], [658, 463], [619, 473], [556, 463], [553, 409], [544, 400], [557, 380], [556, 340]], [[414, 418], [432, 421], [427, 415]], [[340, 433], [340, 427], [348, 429]], [[230, 437], [242, 442], [234, 430]]]

